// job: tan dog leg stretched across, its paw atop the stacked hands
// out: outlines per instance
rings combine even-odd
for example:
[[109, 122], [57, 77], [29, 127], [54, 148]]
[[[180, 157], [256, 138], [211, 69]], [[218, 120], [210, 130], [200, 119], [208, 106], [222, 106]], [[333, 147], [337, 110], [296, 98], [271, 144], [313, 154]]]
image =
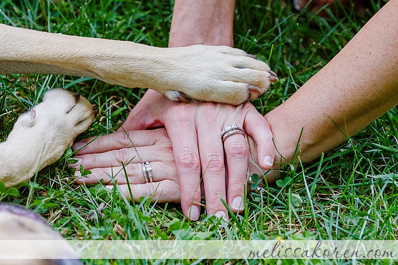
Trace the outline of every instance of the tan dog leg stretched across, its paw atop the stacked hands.
[[227, 46], [159, 48], [52, 34], [0, 24], [0, 73], [90, 76], [169, 99], [238, 105], [278, 80], [269, 67]]

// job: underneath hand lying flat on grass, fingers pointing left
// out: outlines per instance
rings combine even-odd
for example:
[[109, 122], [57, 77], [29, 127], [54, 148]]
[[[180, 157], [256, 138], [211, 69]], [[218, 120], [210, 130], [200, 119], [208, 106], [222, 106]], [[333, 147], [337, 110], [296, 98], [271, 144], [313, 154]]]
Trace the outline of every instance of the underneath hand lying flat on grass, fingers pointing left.
[[[78, 162], [69, 166], [76, 168], [74, 174], [81, 184], [103, 180], [103, 184], [113, 188], [114, 179], [129, 199], [138, 201], [149, 194], [153, 202], [180, 202], [171, 142], [164, 128], [118, 131], [95, 140], [85, 139], [74, 144], [73, 149], [77, 150], [77, 156], [73, 158]], [[154, 182], [145, 182], [141, 165], [145, 161], [151, 162]], [[84, 170], [90, 170], [91, 174], [82, 177], [80, 165], [84, 166]]]

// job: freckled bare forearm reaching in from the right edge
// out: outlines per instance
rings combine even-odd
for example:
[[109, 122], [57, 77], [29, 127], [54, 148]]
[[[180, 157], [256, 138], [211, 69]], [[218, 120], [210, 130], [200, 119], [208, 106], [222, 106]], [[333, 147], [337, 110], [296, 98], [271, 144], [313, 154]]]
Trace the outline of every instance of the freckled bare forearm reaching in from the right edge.
[[[265, 115], [282, 155], [309, 162], [398, 103], [398, 0], [390, 0], [297, 92]], [[278, 160], [278, 158], [277, 158]]]

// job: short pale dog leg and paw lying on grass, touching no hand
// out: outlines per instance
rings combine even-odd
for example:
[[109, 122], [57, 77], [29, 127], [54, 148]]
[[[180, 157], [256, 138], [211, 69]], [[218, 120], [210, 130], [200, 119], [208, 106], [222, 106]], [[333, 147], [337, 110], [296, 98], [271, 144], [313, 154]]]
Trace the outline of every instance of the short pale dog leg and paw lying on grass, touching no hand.
[[57, 161], [94, 120], [93, 105], [79, 94], [52, 89], [14, 124], [0, 143], [0, 182], [6, 187], [29, 180]]

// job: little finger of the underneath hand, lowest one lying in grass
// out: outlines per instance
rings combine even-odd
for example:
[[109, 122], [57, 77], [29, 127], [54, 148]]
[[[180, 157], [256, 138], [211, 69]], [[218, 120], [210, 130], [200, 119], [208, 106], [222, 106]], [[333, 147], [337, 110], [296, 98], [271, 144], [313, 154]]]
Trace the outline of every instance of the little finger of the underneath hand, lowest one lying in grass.
[[[113, 185], [108, 186], [113, 189]], [[145, 184], [128, 184], [118, 185], [118, 189], [128, 199], [139, 201], [141, 197], [148, 196], [152, 202], [180, 202], [180, 187], [176, 181], [162, 180], [160, 182]], [[130, 193], [131, 191], [131, 193]]]

